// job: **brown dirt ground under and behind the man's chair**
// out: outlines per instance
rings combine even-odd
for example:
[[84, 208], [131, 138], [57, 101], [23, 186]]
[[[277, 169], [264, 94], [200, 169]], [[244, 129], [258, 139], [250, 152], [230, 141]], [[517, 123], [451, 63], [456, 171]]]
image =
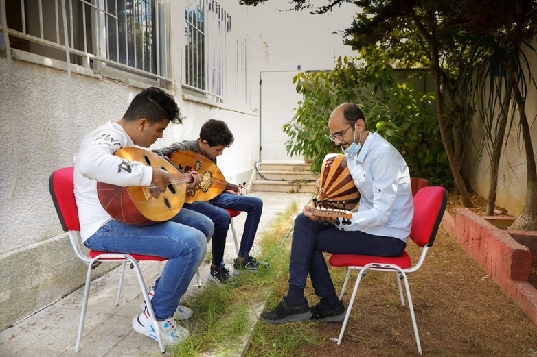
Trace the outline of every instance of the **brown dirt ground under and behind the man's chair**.
[[[485, 200], [474, 196], [477, 214]], [[461, 206], [450, 193], [448, 211]], [[453, 213], [452, 213], [453, 214]], [[409, 244], [416, 260], [420, 250]], [[332, 268], [336, 290], [344, 269]], [[348, 306], [354, 278], [343, 297]], [[537, 357], [537, 325], [525, 315], [440, 227], [435, 244], [421, 269], [409, 274], [412, 299], [424, 356], [532, 356]], [[316, 304], [311, 289], [310, 305]], [[300, 356], [418, 356], [410, 313], [400, 305], [396, 279], [372, 272], [360, 285], [352, 315], [340, 346], [341, 323], [314, 325], [325, 336], [321, 345], [301, 346]]]

